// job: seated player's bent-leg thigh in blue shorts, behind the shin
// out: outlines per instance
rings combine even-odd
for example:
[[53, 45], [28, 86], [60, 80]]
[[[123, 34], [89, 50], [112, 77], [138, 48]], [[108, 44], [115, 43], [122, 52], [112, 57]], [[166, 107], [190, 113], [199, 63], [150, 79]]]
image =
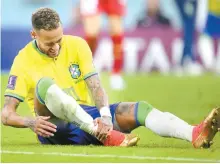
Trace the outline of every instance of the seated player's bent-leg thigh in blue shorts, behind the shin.
[[[41, 104], [38, 99], [34, 99], [35, 112], [39, 116], [51, 116], [49, 121], [57, 126], [57, 132], [53, 137], [38, 136], [42, 144], [58, 144], [58, 145], [102, 145], [94, 136], [81, 130], [79, 127], [72, 123], [56, 118], [45, 105]], [[86, 106], [85, 109], [93, 117], [100, 117], [96, 107]]]

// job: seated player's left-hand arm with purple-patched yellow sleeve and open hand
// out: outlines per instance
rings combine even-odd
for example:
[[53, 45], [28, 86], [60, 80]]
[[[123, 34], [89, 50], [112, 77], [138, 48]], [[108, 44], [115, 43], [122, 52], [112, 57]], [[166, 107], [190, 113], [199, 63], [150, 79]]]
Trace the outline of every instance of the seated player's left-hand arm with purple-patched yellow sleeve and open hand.
[[48, 122], [49, 117], [38, 116], [36, 118], [20, 116], [16, 109], [20, 102], [24, 101], [29, 92], [30, 81], [23, 64], [23, 59], [17, 55], [12, 64], [8, 85], [5, 91], [5, 103], [1, 112], [2, 123], [16, 128], [30, 128], [38, 135], [53, 136], [56, 126]]

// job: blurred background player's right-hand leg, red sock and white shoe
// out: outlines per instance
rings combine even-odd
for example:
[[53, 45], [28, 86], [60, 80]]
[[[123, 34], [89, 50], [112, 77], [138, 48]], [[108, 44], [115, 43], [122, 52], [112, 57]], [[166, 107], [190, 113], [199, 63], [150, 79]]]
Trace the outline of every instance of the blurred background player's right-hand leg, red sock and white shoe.
[[123, 69], [123, 39], [124, 30], [122, 17], [120, 15], [110, 15], [109, 20], [109, 30], [113, 45], [113, 68], [110, 77], [110, 85], [112, 89], [122, 90], [125, 87], [123, 78], [121, 77], [121, 72]]

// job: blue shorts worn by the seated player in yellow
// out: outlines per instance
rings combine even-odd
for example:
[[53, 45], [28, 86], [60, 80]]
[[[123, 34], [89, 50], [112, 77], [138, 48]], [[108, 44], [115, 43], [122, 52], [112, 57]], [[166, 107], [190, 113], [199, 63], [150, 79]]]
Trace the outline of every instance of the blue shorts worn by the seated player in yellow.
[[[114, 123], [115, 110], [119, 103], [110, 105], [110, 111], [112, 114], [112, 122]], [[100, 117], [100, 113], [95, 106], [80, 105], [93, 119]], [[51, 120], [53, 122], [53, 120]], [[45, 138], [38, 136], [39, 141], [42, 144], [58, 144], [58, 145], [102, 145], [94, 136], [81, 130], [79, 127], [72, 123], [65, 122], [63, 120], [54, 120], [57, 125], [57, 132], [53, 137]]]

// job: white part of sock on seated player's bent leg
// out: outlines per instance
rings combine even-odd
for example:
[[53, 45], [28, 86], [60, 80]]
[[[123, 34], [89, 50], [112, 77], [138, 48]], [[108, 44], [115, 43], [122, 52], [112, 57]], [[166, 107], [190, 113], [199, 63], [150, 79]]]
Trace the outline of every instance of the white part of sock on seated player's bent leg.
[[56, 84], [48, 88], [45, 105], [56, 117], [74, 123], [82, 130], [94, 134], [96, 127], [93, 118], [81, 108], [73, 97], [67, 95]]

